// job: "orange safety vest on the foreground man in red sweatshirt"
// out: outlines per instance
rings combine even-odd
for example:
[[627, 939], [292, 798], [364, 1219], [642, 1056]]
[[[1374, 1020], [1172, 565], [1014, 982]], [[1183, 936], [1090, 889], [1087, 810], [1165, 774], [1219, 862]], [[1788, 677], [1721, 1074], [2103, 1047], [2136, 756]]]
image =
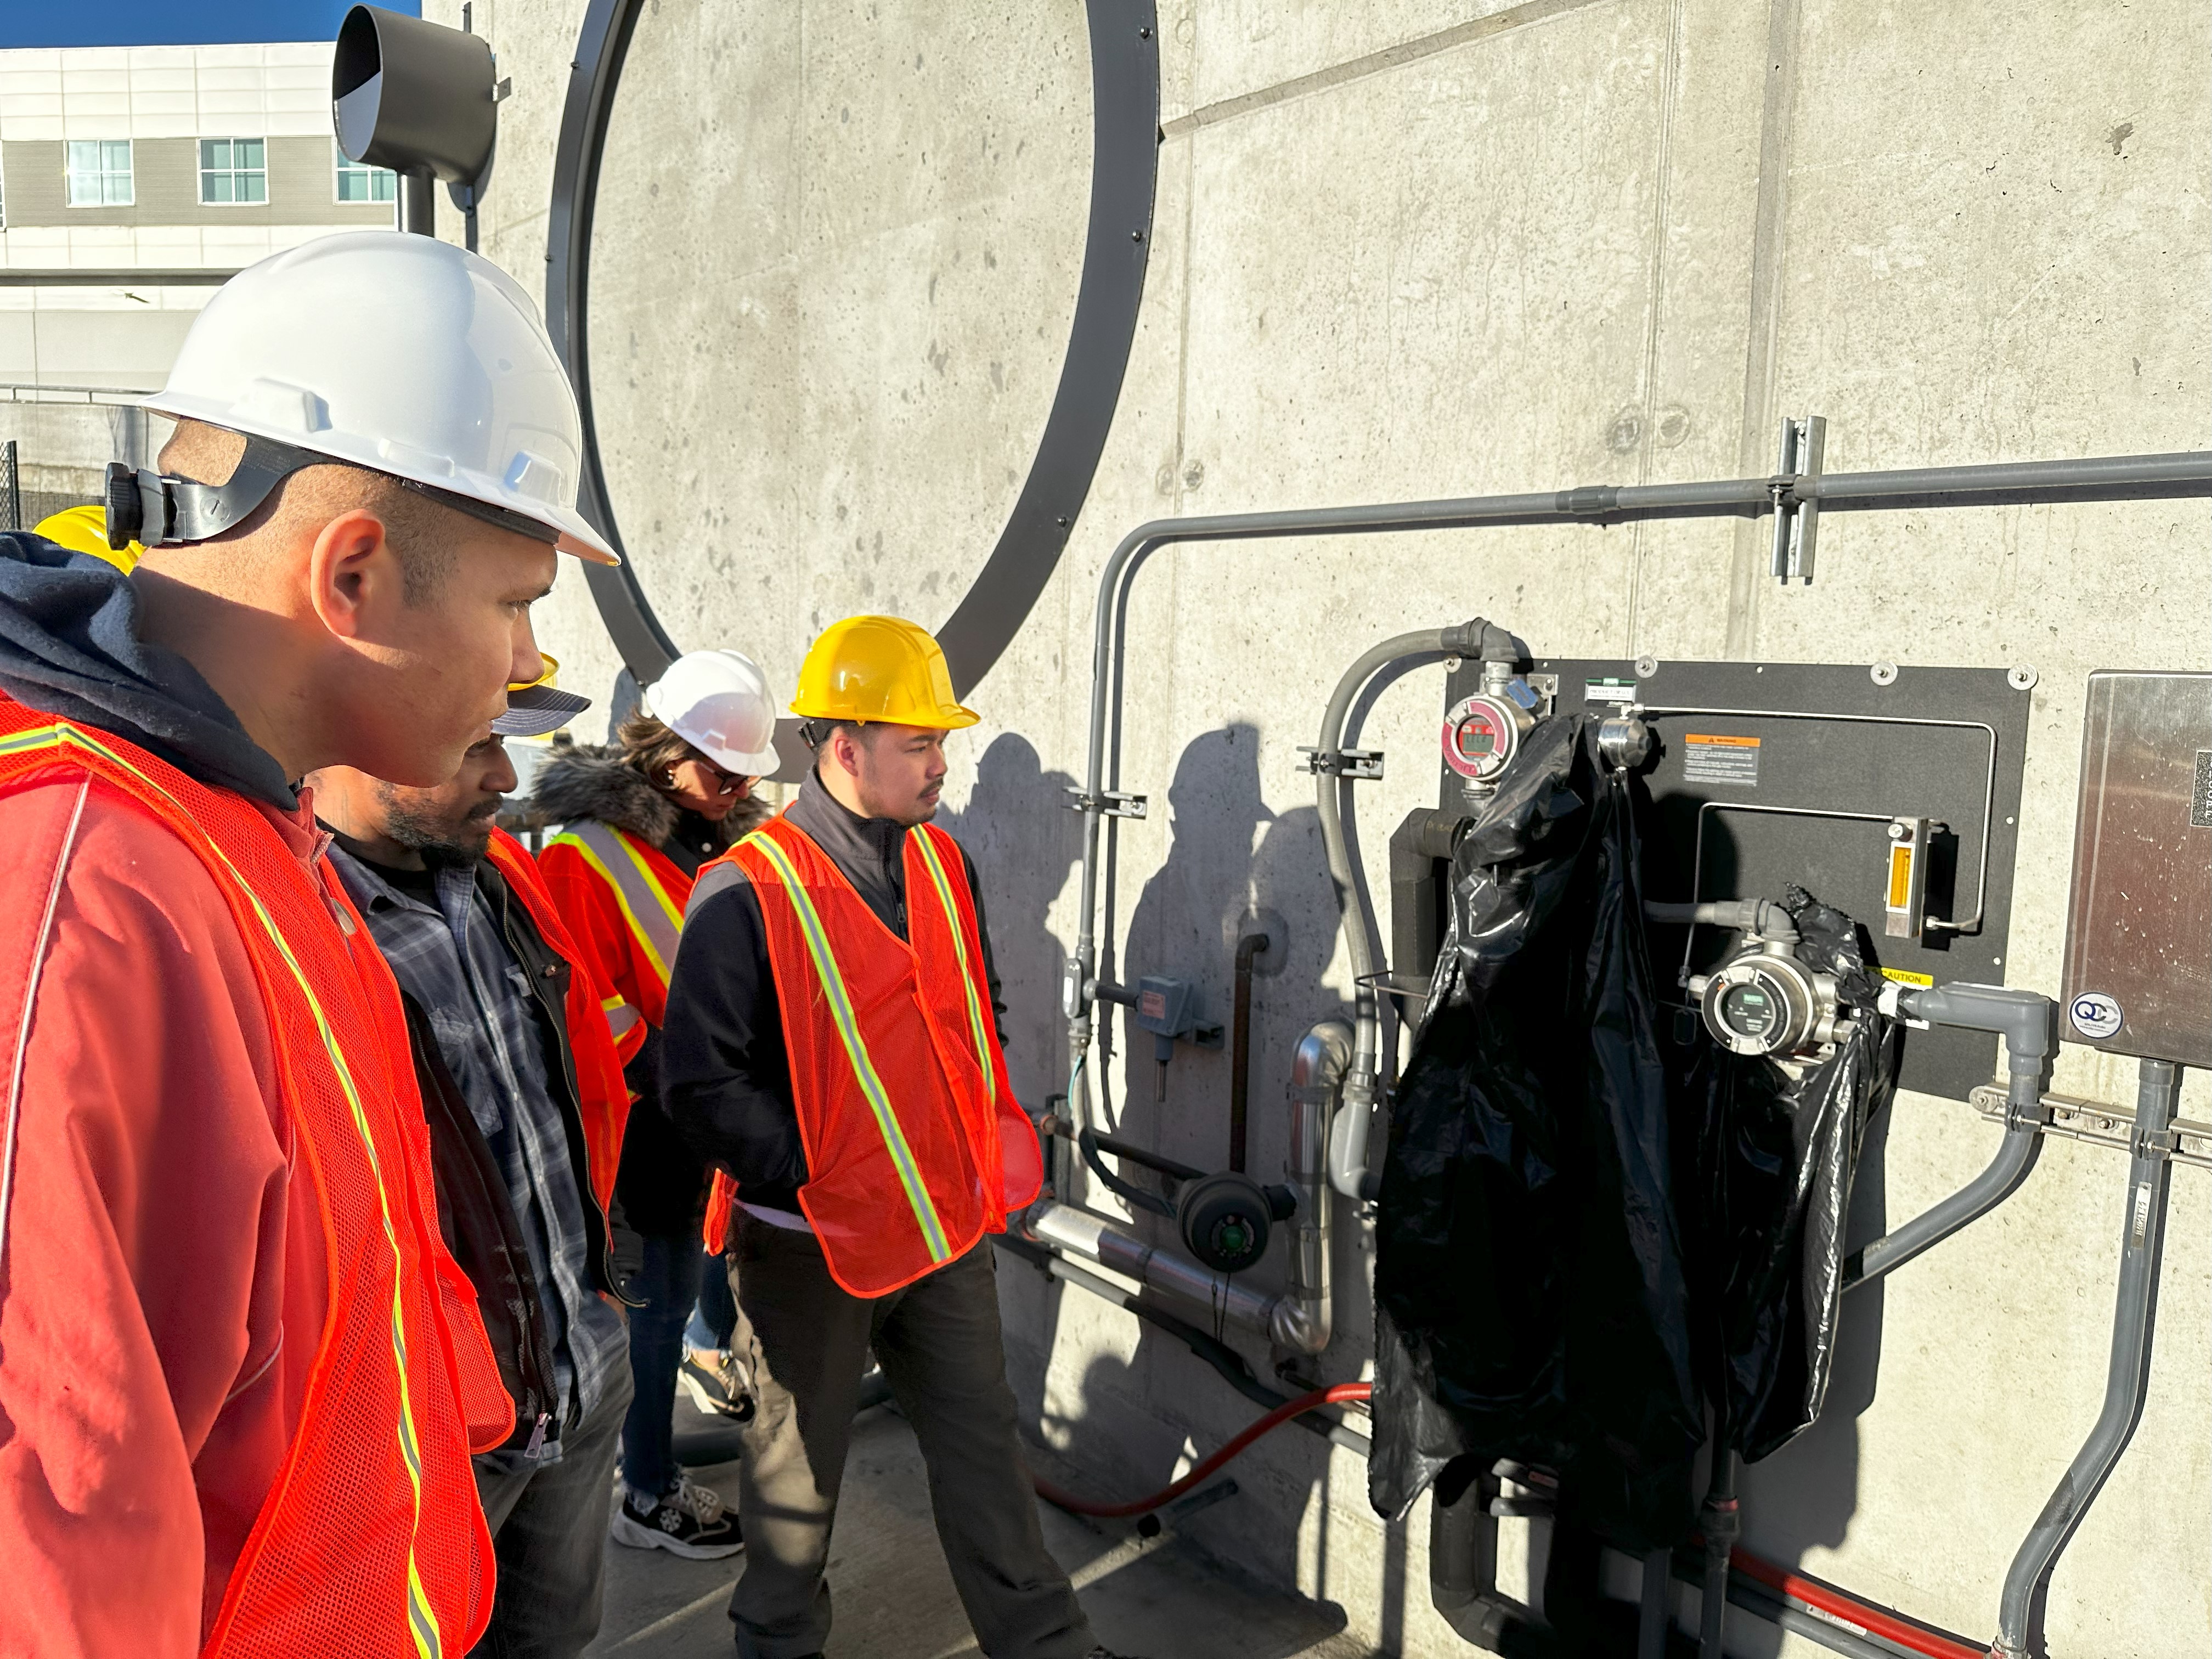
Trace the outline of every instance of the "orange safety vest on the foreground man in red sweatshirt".
[[261, 984], [279, 1091], [323, 1219], [327, 1301], [299, 1429], [204, 1655], [440, 1659], [491, 1619], [469, 1469], [513, 1429], [476, 1290], [438, 1234], [398, 987], [327, 865], [237, 794], [0, 697], [0, 792], [91, 774], [199, 854]]

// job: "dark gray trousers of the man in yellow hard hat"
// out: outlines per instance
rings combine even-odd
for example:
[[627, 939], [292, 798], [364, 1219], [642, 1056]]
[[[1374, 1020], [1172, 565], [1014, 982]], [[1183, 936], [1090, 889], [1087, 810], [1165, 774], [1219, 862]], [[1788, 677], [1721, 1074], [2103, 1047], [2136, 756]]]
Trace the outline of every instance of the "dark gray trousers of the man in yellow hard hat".
[[929, 1504], [960, 1606], [989, 1659], [1082, 1659], [1095, 1646], [1044, 1551], [1015, 1433], [984, 1239], [889, 1296], [830, 1279], [810, 1232], [737, 1221], [732, 1343], [759, 1409], [737, 1482], [745, 1571], [730, 1597], [741, 1659], [803, 1659], [830, 1639], [830, 1526], [869, 1347], [929, 1467]]

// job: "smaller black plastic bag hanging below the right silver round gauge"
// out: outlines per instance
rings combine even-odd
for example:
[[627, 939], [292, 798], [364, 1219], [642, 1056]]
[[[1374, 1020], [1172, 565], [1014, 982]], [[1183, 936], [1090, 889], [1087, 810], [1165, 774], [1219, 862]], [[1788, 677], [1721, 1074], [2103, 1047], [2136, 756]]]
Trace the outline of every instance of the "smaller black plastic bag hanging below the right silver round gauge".
[[1796, 958], [1838, 980], [1856, 1031], [1818, 1066], [1790, 1071], [1699, 1042], [1677, 1106], [1683, 1135], [1692, 1279], [1705, 1387], [1723, 1433], [1747, 1460], [1787, 1444], [1820, 1416], [1843, 1310], [1843, 1230], [1874, 1113], [1896, 1091], [1902, 1031], [1876, 1011], [1858, 922], [1803, 887]]

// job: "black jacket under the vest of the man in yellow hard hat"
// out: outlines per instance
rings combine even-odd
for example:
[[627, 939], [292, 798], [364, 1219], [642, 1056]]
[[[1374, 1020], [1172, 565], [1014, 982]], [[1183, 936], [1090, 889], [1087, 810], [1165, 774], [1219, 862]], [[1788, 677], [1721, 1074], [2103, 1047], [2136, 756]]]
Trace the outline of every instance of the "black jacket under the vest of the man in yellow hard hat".
[[[814, 774], [799, 787], [790, 818], [830, 854], [883, 925], [907, 938], [905, 825], [847, 812]], [[984, 982], [1004, 1042], [1006, 1004], [991, 962], [982, 885], [967, 849], [960, 860], [975, 896]], [[768, 931], [759, 894], [730, 863], [706, 872], [684, 911], [684, 942], [668, 978], [668, 1022], [661, 1026], [661, 1099], [699, 1157], [737, 1177], [745, 1203], [799, 1210], [807, 1155], [792, 1106], [792, 1066], [783, 1048]]]

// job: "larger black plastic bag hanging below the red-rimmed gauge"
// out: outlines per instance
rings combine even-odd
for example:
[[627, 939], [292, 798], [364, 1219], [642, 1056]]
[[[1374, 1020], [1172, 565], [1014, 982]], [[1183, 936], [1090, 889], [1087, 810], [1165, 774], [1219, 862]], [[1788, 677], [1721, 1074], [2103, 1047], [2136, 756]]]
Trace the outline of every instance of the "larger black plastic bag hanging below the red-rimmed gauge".
[[1451, 936], [1376, 1223], [1369, 1500], [1455, 1455], [1559, 1471], [1562, 1520], [1681, 1542], [1703, 1440], [1668, 1075], [1637, 883], [1641, 781], [1597, 721], [1528, 734], [1453, 856]]

